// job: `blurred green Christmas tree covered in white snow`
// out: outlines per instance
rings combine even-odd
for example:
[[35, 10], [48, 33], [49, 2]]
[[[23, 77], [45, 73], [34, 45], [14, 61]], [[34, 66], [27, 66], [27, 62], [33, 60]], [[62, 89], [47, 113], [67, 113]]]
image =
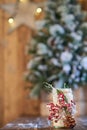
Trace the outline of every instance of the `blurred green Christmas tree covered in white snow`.
[[32, 95], [39, 94], [43, 82], [55, 88], [66, 82], [77, 88], [87, 84], [87, 22], [77, 0], [47, 0], [44, 19], [27, 45], [32, 59], [26, 79]]

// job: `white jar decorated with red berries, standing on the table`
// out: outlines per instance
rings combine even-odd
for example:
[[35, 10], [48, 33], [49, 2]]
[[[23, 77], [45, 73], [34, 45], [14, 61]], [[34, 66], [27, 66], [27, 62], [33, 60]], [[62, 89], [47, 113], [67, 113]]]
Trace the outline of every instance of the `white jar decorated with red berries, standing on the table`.
[[53, 88], [52, 96], [54, 106], [60, 106], [55, 109], [55, 111], [58, 109], [59, 114], [56, 113], [56, 118], [53, 117], [52, 126], [55, 128], [73, 128], [76, 125], [74, 119], [76, 107], [73, 101], [73, 93], [71, 88], [58, 90]]

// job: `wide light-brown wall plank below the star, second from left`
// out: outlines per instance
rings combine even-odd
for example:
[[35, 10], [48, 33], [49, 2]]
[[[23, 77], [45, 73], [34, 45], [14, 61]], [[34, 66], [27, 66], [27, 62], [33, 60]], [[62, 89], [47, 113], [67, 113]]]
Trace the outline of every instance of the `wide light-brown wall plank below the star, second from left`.
[[[15, 3], [15, 0], [5, 0], [5, 3]], [[8, 14], [5, 13], [6, 17]], [[19, 74], [19, 41], [17, 31], [7, 35], [9, 25], [5, 19], [5, 39], [7, 41], [4, 59], [4, 123], [16, 119], [22, 113], [22, 86], [20, 85]], [[21, 66], [21, 64], [20, 64]], [[10, 113], [10, 114], [9, 114]]]

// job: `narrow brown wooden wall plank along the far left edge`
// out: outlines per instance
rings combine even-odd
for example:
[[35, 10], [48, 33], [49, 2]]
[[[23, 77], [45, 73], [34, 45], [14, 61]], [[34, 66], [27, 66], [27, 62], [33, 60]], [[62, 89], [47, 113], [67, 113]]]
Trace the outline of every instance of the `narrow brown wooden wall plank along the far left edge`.
[[[2, 4], [2, 0], [0, 0], [0, 4]], [[4, 119], [4, 24], [4, 12], [0, 10], [0, 126]]]

